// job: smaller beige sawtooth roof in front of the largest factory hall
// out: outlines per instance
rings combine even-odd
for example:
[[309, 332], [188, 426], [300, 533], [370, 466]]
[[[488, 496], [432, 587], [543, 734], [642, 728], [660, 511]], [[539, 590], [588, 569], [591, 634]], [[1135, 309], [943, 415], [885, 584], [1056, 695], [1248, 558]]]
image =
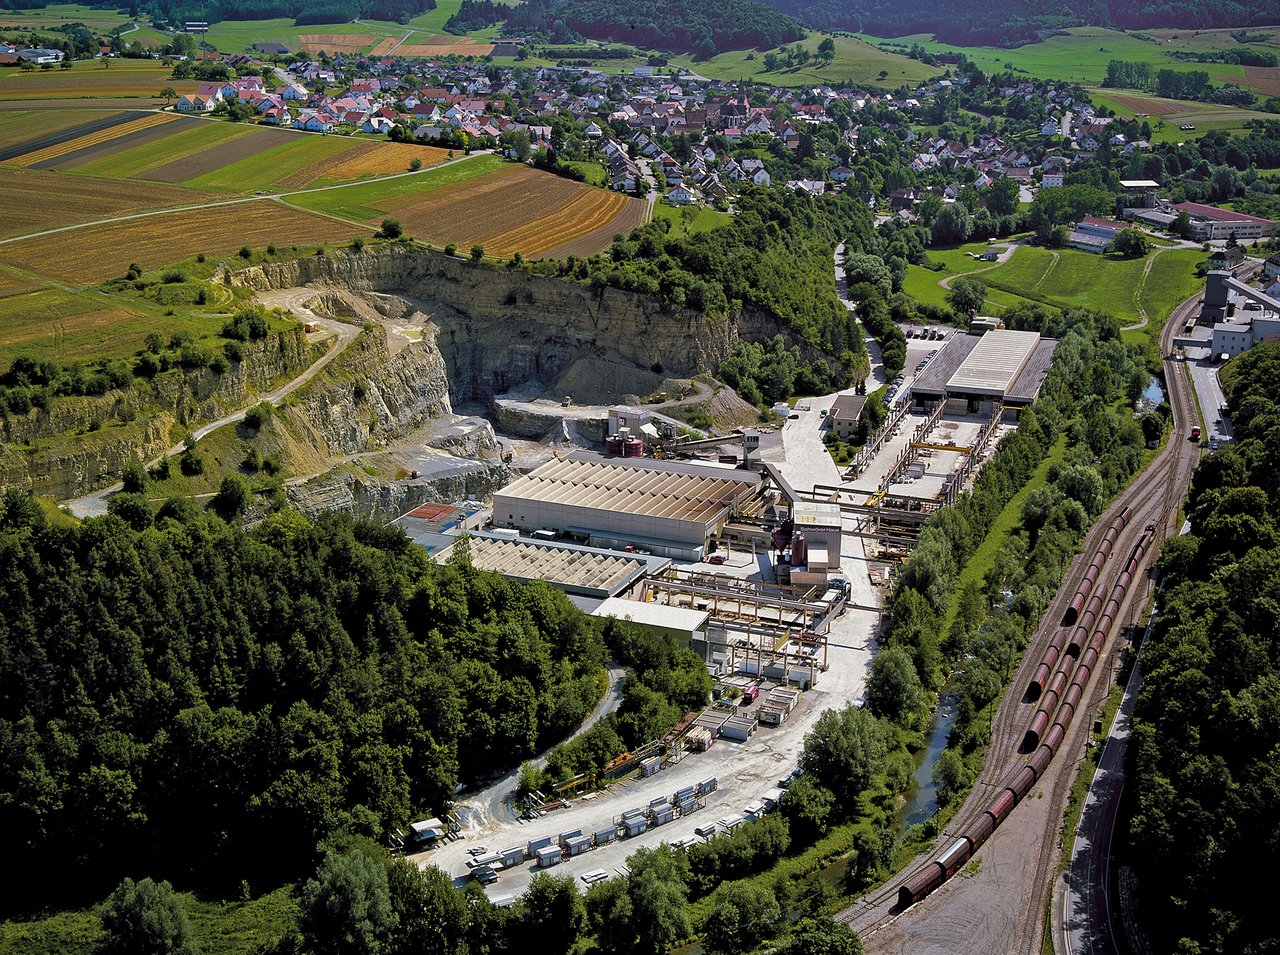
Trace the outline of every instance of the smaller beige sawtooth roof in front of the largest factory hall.
[[579, 593], [613, 595], [645, 568], [640, 559], [503, 538], [471, 538], [471, 565], [517, 580], [545, 580]]

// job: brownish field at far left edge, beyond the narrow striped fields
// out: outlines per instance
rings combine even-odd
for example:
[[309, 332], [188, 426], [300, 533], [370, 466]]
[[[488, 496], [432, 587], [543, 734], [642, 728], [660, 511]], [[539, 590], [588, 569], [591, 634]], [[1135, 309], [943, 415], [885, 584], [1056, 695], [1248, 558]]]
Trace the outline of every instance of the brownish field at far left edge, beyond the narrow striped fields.
[[[104, 63], [111, 65], [104, 68]], [[77, 60], [72, 69], [0, 73], [0, 102], [29, 100], [136, 99], [138, 105], [161, 105], [157, 93], [172, 86], [180, 96], [195, 92], [196, 81], [170, 79], [173, 70], [154, 60]], [[77, 104], [83, 106], [84, 104]]]

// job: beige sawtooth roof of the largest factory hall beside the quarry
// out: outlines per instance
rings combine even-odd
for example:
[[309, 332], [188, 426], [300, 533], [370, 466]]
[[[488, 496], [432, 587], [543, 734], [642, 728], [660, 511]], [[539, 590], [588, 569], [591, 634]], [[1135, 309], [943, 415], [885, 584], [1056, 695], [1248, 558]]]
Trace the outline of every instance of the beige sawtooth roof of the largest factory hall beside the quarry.
[[759, 485], [758, 475], [675, 462], [582, 457], [548, 461], [494, 494], [620, 513], [709, 522]]

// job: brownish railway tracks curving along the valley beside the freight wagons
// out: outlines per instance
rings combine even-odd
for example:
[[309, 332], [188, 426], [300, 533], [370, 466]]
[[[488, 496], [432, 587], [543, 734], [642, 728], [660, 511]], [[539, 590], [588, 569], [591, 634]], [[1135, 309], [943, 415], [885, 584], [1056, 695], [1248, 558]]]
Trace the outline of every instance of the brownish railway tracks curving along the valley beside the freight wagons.
[[[1075, 709], [1074, 718], [1066, 726], [1065, 736], [1055, 758], [1033, 786], [1033, 791], [1039, 789], [1043, 795], [1047, 795], [1050, 805], [1044, 813], [1038, 840], [1036, 845], [1029, 846], [1030, 851], [1037, 853], [1034, 873], [1021, 885], [1018, 899], [1018, 911], [1021, 917], [1015, 920], [1014, 937], [1006, 937], [1004, 950], [1039, 955], [1043, 931], [1042, 913], [1059, 860], [1055, 842], [1061, 828], [1071, 780], [1083, 759], [1092, 714], [1100, 710], [1110, 691], [1111, 675], [1119, 657], [1119, 635], [1137, 618], [1151, 598], [1153, 582], [1149, 568], [1160, 554], [1160, 544], [1170, 534], [1176, 533], [1179, 504], [1199, 461], [1199, 449], [1189, 439], [1192, 426], [1199, 421], [1190, 380], [1185, 373], [1185, 365], [1167, 357], [1172, 353], [1174, 337], [1183, 328], [1188, 316], [1194, 312], [1197, 301], [1198, 296], [1193, 296], [1174, 309], [1161, 332], [1161, 353], [1166, 356], [1164, 358], [1165, 381], [1172, 408], [1172, 429], [1169, 442], [1156, 458], [1116, 495], [1116, 499], [1085, 535], [1082, 553], [1069, 565], [1062, 584], [1032, 635], [1023, 661], [992, 718], [987, 759], [965, 804], [946, 830], [940, 833], [938, 840], [928, 853], [913, 859], [906, 868], [874, 894], [858, 900], [837, 915], [840, 920], [849, 923], [859, 932], [864, 940], [870, 938], [911, 910], [911, 908], [902, 909], [900, 906], [899, 887], [924, 873], [929, 867], [934, 867], [940, 853], [952, 846], [961, 833], [973, 830], [974, 824], [987, 813], [996, 794], [1007, 786], [1010, 776], [1028, 763], [1030, 754], [1024, 754], [1020, 749], [1028, 723], [1038, 704], [1029, 699], [1027, 687], [1034, 671], [1039, 667], [1050, 641], [1064, 627], [1062, 621], [1068, 608], [1093, 554], [1116, 517], [1125, 508], [1129, 508], [1129, 520], [1116, 535], [1111, 557], [1098, 572], [1092, 594], [1103, 594], [1103, 600], [1106, 600], [1106, 595], [1111, 593], [1124, 570], [1126, 557], [1138, 540], [1147, 534], [1148, 526], [1153, 531], [1152, 539], [1146, 553], [1138, 561], [1133, 582], [1124, 594], [1115, 620], [1106, 634], [1097, 664], [1083, 687], [1080, 704]], [[1066, 629], [1070, 631], [1074, 626], [1073, 623]], [[1105, 678], [1102, 673], [1106, 673]], [[1016, 810], [1015, 807], [1014, 812]], [[974, 854], [977, 855], [977, 851]], [[973, 888], [970, 891], [982, 890]], [[964, 928], [960, 928], [959, 932], [964, 932]], [[965, 937], [957, 937], [954, 941], [954, 951], [965, 950], [964, 945], [968, 941]]]

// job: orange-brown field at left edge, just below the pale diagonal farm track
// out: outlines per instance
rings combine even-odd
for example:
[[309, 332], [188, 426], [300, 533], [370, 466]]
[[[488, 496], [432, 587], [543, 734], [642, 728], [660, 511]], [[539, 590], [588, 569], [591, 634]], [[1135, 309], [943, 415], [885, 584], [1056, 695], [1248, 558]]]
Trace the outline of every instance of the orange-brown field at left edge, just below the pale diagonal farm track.
[[0, 246], [0, 262], [68, 284], [91, 285], [123, 275], [133, 262], [154, 269], [197, 253], [223, 256], [242, 246], [311, 245], [369, 232], [256, 200], [19, 239]]

